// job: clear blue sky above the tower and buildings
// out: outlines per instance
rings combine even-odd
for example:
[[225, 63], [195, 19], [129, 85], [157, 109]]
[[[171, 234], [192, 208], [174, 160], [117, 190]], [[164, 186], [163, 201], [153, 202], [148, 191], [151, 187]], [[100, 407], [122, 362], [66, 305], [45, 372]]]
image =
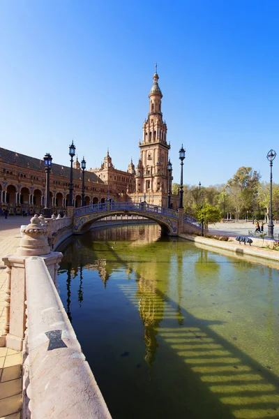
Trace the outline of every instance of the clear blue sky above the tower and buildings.
[[227, 182], [240, 166], [279, 182], [279, 2], [2, 0], [1, 146], [87, 167], [137, 163], [154, 63], [174, 182]]

